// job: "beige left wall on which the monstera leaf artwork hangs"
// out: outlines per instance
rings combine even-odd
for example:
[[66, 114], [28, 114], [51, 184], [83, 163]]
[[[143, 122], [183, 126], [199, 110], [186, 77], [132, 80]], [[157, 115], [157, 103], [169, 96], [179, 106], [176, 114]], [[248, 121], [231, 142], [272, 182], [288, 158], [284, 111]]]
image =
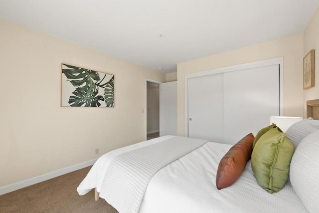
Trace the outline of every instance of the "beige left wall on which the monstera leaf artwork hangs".
[[[0, 28], [0, 187], [145, 140], [146, 78], [165, 74], [4, 19]], [[115, 107], [60, 107], [62, 62], [115, 74]]]

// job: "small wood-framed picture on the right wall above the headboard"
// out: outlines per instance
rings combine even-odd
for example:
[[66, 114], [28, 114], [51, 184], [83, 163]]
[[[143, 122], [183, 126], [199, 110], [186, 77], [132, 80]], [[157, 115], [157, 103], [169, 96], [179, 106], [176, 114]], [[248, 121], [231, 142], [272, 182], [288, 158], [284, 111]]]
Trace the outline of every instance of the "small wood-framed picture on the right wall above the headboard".
[[312, 49], [304, 57], [304, 89], [315, 86], [315, 50]]

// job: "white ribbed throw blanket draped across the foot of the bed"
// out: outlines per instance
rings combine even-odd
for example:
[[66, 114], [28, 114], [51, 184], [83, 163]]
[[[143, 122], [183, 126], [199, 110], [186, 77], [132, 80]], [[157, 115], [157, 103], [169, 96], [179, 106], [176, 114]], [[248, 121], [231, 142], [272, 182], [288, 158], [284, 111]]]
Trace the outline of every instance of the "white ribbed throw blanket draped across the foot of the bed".
[[207, 142], [176, 136], [117, 156], [108, 167], [100, 197], [121, 213], [139, 213], [152, 177]]

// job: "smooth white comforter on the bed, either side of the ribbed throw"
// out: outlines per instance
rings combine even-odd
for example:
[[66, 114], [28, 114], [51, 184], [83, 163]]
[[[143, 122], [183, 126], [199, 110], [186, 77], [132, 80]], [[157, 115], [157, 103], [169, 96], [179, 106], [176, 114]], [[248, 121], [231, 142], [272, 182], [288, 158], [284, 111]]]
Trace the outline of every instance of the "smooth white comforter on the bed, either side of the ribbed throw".
[[[137, 145], [157, 143], [165, 136]], [[147, 143], [145, 145], [145, 143]], [[134, 149], [128, 147], [128, 151]], [[216, 171], [220, 159], [231, 145], [208, 142], [162, 168], [150, 181], [140, 213], [306, 213], [304, 205], [288, 182], [283, 190], [269, 194], [258, 186], [250, 162], [240, 179], [231, 187], [216, 189]], [[110, 158], [107, 157], [108, 166]], [[121, 152], [122, 153], [122, 152]], [[106, 154], [107, 155], [107, 154]], [[107, 169], [98, 160], [78, 187], [79, 194], [102, 185]], [[104, 173], [104, 174], [103, 174]], [[101, 180], [102, 179], [102, 180]], [[93, 182], [94, 183], [93, 183]]]

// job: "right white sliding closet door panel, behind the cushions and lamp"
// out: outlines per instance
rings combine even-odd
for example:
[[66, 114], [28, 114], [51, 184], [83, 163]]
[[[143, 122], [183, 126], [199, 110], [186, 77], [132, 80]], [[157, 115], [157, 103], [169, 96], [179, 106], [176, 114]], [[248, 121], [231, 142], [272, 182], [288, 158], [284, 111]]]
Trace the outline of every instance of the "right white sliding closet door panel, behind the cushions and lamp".
[[224, 73], [224, 143], [234, 144], [279, 116], [279, 65]]

